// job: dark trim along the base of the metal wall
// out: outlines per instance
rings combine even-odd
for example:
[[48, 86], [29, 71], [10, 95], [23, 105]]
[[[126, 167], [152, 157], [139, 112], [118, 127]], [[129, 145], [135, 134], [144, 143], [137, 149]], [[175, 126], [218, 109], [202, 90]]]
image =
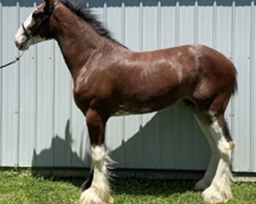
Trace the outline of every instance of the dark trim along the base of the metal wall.
[[[90, 168], [69, 167], [18, 167], [30, 169], [36, 174], [43, 176], [81, 177], [89, 175]], [[13, 167], [0, 167], [2, 170]], [[145, 178], [164, 180], [191, 180], [196, 181], [204, 176], [204, 170], [154, 170], [154, 169], [111, 169], [111, 175], [115, 178]], [[256, 182], [256, 172], [233, 172], [234, 182]]]

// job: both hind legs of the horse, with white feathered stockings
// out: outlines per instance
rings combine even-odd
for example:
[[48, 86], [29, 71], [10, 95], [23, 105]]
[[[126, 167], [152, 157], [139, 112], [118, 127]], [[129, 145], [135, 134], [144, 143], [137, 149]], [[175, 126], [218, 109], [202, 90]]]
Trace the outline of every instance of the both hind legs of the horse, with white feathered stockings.
[[232, 198], [229, 165], [235, 143], [224, 119], [228, 99], [229, 95], [222, 93], [212, 102], [190, 105], [212, 149], [204, 178], [195, 185], [196, 190], [204, 190], [204, 201], [209, 203], [225, 202]]

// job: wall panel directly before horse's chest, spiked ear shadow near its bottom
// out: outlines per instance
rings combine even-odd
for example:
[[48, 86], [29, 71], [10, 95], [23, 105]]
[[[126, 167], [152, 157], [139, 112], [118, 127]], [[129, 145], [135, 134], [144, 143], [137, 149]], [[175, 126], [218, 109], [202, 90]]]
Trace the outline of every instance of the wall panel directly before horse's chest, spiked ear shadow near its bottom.
[[[53, 165], [70, 166], [71, 163], [71, 102], [72, 79], [63, 61], [58, 44], [53, 45], [54, 59], [54, 137]], [[59, 154], [62, 152], [63, 154]]]

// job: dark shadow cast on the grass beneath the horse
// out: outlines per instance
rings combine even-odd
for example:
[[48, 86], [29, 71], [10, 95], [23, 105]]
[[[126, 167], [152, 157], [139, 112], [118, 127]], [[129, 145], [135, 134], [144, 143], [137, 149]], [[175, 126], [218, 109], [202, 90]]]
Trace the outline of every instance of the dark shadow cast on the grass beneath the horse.
[[[32, 169], [34, 177], [41, 176], [37, 170]], [[53, 182], [70, 183], [80, 189], [87, 178], [69, 177], [64, 178], [51, 173], [44, 176], [44, 179]], [[141, 179], [141, 178], [111, 178], [111, 189], [114, 195], [152, 195], [168, 197], [172, 194], [183, 194], [192, 191], [196, 181], [163, 180], [163, 179]]]

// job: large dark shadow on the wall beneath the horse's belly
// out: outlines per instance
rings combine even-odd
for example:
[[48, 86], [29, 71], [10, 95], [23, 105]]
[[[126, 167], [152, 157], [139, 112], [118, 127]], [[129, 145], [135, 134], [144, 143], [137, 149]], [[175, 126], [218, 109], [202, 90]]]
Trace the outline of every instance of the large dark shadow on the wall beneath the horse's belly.
[[122, 144], [111, 151], [111, 158], [117, 161], [114, 167], [161, 170], [207, 168], [209, 144], [196, 120], [183, 105], [159, 111], [149, 120], [146, 115], [137, 117], [146, 120], [145, 125], [140, 125], [139, 130], [128, 139], [124, 135]]

